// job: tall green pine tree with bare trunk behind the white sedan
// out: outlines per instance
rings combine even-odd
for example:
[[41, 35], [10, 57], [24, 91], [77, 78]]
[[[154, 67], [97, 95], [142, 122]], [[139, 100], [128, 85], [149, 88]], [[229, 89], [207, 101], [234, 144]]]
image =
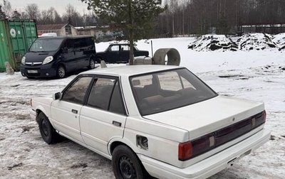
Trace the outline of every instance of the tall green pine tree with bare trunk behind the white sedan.
[[121, 29], [130, 41], [130, 65], [133, 65], [134, 40], [147, 38], [153, 21], [165, 10], [161, 0], [81, 0], [93, 9], [99, 18], [106, 18], [114, 28]]

